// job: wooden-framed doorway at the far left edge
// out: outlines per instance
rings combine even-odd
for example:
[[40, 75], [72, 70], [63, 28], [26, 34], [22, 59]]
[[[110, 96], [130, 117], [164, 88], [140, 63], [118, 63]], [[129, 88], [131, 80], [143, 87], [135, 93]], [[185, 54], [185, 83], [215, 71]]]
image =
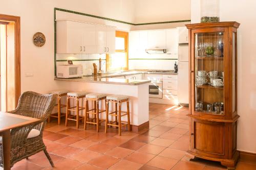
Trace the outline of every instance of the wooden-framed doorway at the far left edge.
[[14, 110], [20, 95], [20, 17], [0, 14], [0, 110]]

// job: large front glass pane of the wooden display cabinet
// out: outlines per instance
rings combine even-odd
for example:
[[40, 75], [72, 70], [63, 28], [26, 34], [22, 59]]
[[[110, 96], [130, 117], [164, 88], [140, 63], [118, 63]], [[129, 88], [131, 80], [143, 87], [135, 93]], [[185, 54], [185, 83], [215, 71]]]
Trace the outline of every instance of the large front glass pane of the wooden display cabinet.
[[224, 33], [195, 35], [195, 110], [224, 115]]

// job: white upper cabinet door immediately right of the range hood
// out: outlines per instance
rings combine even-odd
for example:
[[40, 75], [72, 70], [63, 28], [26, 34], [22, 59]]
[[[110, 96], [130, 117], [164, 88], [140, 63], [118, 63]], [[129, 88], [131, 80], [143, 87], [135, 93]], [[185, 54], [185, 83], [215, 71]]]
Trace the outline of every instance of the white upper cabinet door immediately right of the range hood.
[[167, 54], [178, 54], [178, 30], [166, 30], [166, 50]]

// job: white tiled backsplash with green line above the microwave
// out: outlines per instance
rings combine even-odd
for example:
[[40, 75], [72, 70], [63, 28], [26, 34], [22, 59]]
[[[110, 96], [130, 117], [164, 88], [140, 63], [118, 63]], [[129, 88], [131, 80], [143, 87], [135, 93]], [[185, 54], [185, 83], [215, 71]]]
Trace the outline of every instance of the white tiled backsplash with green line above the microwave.
[[57, 65], [68, 64], [66, 60], [73, 60], [73, 64], [81, 64], [83, 69], [91, 68], [93, 71], [93, 63], [96, 63], [99, 69], [99, 58], [102, 59], [101, 70], [105, 72], [106, 68], [105, 54], [57, 54]]

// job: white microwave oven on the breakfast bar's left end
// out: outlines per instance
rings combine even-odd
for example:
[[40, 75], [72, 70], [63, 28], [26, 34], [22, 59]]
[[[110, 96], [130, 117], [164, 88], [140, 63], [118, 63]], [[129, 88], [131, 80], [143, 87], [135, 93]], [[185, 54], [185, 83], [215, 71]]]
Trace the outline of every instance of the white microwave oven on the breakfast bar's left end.
[[57, 65], [57, 78], [82, 77], [82, 65]]

